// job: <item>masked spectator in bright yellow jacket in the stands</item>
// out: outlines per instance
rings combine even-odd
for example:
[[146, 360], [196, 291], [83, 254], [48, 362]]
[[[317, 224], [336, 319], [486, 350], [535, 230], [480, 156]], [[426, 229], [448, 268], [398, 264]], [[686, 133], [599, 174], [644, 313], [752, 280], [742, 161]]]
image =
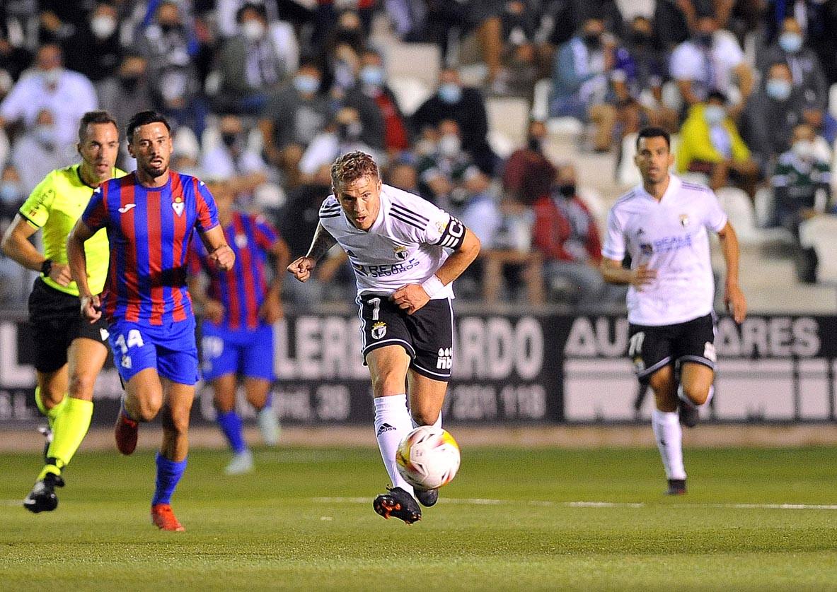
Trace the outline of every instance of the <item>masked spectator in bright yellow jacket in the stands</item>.
[[706, 103], [692, 105], [680, 128], [680, 146], [675, 157], [678, 172], [697, 172], [709, 177], [716, 190], [733, 184], [755, 194], [758, 164], [727, 114], [727, 98], [720, 92], [709, 94]]

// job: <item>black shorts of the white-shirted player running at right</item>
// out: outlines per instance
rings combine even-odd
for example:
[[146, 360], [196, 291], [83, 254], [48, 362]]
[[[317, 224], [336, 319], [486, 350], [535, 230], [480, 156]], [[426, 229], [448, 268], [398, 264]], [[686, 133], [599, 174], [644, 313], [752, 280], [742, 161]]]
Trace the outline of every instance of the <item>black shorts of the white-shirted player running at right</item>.
[[685, 323], [629, 326], [628, 355], [641, 382], [665, 365], [680, 369], [683, 362], [697, 362], [715, 370], [715, 319], [707, 314]]

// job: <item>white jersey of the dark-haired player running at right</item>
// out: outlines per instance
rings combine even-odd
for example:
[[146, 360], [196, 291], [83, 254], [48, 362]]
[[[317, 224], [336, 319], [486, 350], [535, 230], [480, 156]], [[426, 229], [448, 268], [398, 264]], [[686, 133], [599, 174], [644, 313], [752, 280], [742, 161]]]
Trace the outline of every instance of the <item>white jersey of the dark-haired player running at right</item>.
[[706, 186], [670, 176], [660, 202], [640, 185], [611, 208], [602, 255], [634, 268], [647, 263], [655, 280], [628, 290], [633, 324], [676, 324], [710, 314], [715, 293], [706, 228], [720, 231], [727, 214]]

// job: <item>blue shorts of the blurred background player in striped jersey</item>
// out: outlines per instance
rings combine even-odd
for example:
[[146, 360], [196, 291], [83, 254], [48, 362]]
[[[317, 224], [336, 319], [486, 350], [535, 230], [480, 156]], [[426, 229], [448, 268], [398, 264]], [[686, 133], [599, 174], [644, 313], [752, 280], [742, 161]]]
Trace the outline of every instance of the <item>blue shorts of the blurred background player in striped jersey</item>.
[[227, 329], [203, 321], [201, 329], [203, 380], [215, 380], [227, 374], [274, 380], [273, 327]]

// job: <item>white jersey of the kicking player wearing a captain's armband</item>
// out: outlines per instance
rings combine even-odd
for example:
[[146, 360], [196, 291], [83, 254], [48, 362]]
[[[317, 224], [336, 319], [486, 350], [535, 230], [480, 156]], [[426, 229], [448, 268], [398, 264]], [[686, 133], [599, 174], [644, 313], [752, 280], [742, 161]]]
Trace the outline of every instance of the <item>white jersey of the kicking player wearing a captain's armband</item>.
[[[358, 295], [423, 283], [448, 258], [444, 248], [459, 248], [465, 237], [465, 227], [448, 212], [388, 185], [381, 188], [381, 209], [368, 231], [348, 220], [333, 195], [320, 207], [320, 223], [349, 256]], [[454, 298], [453, 282], [433, 298]]]

